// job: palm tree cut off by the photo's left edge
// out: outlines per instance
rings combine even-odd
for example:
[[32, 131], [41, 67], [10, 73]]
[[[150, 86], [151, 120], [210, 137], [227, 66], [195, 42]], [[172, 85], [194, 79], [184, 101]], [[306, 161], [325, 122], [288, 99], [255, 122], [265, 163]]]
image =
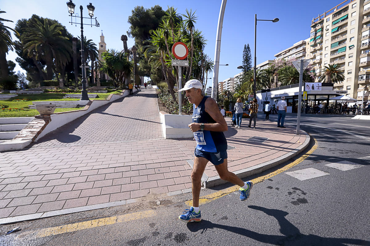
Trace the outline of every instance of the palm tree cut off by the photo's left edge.
[[[0, 11], [0, 14], [6, 13], [5, 11]], [[1, 79], [4, 79], [8, 76], [8, 63], [6, 60], [6, 53], [8, 53], [9, 49], [13, 51], [13, 41], [11, 39], [10, 31], [14, 31], [18, 33], [13, 28], [10, 28], [4, 25], [3, 22], [13, 22], [11, 20], [6, 20], [0, 18], [0, 72], [1, 72]]]

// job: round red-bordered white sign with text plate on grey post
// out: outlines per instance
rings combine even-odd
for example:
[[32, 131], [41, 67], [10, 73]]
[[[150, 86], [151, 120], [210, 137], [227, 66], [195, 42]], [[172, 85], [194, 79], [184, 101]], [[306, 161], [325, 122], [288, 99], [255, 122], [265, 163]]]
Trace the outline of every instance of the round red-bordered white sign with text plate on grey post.
[[[186, 44], [183, 42], [176, 42], [172, 46], [172, 54], [178, 59], [178, 60], [172, 60], [172, 66], [178, 66], [178, 72], [179, 72], [179, 84], [178, 84], [178, 91], [182, 88], [182, 82], [181, 82], [181, 77], [182, 77], [182, 72], [181, 72], [181, 66], [189, 66], [189, 61], [184, 60], [186, 57], [188, 57], [189, 49]], [[181, 91], [178, 92], [179, 95], [179, 115], [182, 115], [181, 112]]]

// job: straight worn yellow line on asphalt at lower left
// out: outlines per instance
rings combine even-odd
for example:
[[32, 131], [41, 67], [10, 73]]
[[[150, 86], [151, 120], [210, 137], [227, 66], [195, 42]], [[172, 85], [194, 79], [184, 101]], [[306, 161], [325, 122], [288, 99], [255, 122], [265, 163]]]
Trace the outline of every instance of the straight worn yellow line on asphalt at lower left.
[[36, 231], [24, 232], [24, 233], [21, 233], [19, 237], [33, 234], [35, 235], [36, 238], [44, 238], [47, 236], [58, 235], [58, 234], [63, 234], [67, 232], [76, 232], [76, 231], [95, 228], [99, 226], [113, 225], [115, 223], [122, 223], [122, 222], [142, 219], [142, 218], [149, 218], [155, 215], [157, 215], [157, 212], [154, 210], [134, 212], [130, 214], [111, 216], [111, 217], [101, 218], [101, 219], [93, 219], [90, 221], [83, 221], [83, 222], [77, 222], [73, 224], [39, 229]]

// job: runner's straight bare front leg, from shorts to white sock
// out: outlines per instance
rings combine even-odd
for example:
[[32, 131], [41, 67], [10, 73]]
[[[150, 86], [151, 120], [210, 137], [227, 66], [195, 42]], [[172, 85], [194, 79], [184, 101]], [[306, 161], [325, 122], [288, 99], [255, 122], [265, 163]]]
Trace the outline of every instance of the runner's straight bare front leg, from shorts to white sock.
[[201, 192], [201, 179], [208, 160], [195, 156], [193, 170], [191, 171], [191, 191], [193, 195], [193, 207], [199, 207], [199, 193]]

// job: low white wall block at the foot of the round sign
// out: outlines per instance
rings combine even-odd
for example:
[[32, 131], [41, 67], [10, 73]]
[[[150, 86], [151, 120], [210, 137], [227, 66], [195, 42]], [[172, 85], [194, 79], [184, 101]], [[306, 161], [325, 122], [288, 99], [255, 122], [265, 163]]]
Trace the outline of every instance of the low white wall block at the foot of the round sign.
[[192, 122], [192, 115], [167, 114], [159, 112], [164, 138], [192, 138], [193, 132], [188, 125]]

